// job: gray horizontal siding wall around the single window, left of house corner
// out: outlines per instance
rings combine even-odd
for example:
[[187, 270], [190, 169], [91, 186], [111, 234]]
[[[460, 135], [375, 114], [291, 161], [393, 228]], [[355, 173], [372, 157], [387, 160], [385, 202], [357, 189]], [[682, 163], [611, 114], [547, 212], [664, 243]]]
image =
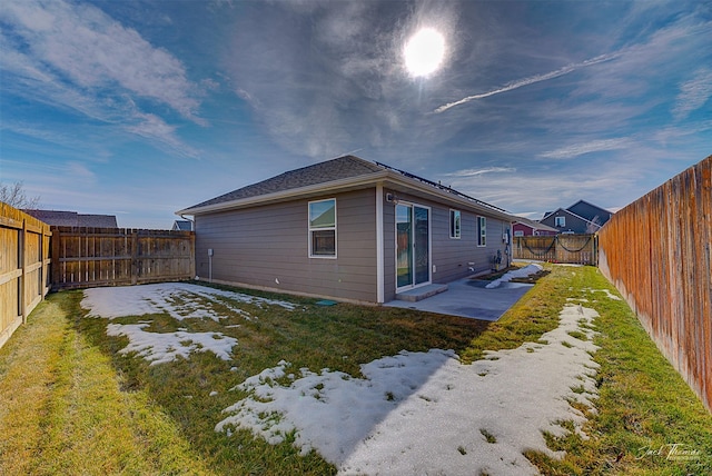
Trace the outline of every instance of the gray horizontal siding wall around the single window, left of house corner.
[[[309, 258], [308, 202], [336, 198], [337, 257]], [[196, 217], [196, 271], [258, 288], [375, 303], [375, 189]]]

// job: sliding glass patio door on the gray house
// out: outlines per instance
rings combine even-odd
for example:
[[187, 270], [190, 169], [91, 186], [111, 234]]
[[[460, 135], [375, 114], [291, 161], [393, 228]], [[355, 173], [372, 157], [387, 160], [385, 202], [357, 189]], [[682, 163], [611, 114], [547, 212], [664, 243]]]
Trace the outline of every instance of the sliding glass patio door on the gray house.
[[431, 281], [431, 210], [396, 205], [396, 286]]

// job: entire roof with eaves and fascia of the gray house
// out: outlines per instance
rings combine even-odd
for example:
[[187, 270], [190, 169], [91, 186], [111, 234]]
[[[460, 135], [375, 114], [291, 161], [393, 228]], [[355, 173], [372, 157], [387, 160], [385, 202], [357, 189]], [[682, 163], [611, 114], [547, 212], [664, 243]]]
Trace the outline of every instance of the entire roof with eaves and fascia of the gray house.
[[327, 191], [367, 187], [378, 182], [396, 190], [416, 190], [428, 196], [436, 196], [481, 212], [486, 211], [491, 216], [508, 221], [516, 221], [515, 217], [493, 205], [468, 197], [457, 190], [443, 187], [413, 173], [395, 169], [384, 163], [370, 162], [355, 156], [344, 156], [290, 170], [179, 210], [176, 215], [195, 216], [209, 214], [297, 197], [317, 196]]

